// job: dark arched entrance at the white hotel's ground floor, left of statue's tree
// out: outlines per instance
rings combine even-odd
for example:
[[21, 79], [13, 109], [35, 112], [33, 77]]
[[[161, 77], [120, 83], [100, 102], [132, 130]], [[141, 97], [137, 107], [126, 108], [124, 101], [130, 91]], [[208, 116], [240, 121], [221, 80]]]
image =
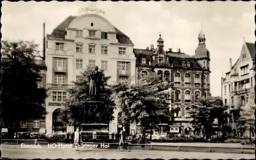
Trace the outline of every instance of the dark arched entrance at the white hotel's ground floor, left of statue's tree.
[[62, 120], [58, 117], [60, 113], [60, 108], [55, 109], [52, 113], [52, 132], [53, 133], [65, 133], [66, 126], [63, 124]]

